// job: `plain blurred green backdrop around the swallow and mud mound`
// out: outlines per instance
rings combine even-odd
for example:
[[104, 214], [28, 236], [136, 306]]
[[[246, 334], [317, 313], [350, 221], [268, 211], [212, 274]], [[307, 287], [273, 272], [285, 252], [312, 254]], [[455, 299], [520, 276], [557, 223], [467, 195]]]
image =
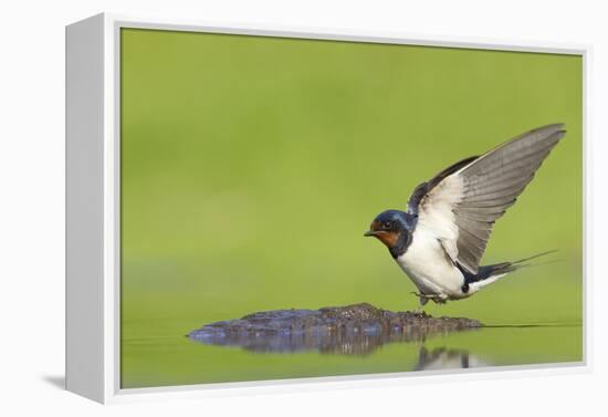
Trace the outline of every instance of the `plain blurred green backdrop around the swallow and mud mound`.
[[[527, 129], [567, 135], [497, 221], [483, 263], [558, 249], [475, 296], [485, 324], [429, 340], [490, 364], [581, 358], [580, 56], [123, 29], [124, 388], [408, 371], [420, 350], [259, 355], [184, 335], [273, 309], [418, 305], [374, 239], [448, 165]], [[557, 326], [555, 326], [557, 325]]]

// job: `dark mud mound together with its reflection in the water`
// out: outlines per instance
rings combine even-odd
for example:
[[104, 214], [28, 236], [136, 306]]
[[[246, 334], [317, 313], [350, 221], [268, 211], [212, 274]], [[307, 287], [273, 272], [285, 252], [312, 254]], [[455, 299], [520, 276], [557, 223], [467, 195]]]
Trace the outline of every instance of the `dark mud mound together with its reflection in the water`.
[[366, 355], [387, 343], [421, 342], [431, 335], [479, 326], [479, 322], [469, 319], [436, 319], [356, 304], [254, 313], [208, 324], [188, 336], [206, 344], [241, 346], [258, 353], [317, 351]]

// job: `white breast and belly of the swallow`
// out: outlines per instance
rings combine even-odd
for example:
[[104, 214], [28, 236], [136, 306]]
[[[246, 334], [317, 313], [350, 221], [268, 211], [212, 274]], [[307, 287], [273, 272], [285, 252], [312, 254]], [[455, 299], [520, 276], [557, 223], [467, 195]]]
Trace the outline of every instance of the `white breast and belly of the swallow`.
[[462, 298], [462, 273], [449, 260], [436, 234], [423, 225], [417, 225], [411, 244], [397, 258], [397, 263], [421, 293]]

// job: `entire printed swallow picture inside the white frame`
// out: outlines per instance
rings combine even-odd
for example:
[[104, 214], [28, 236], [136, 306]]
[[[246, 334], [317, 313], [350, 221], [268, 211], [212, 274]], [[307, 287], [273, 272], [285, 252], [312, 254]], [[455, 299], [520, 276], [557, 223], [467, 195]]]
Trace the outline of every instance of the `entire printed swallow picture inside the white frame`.
[[583, 58], [120, 31], [120, 386], [583, 361]]

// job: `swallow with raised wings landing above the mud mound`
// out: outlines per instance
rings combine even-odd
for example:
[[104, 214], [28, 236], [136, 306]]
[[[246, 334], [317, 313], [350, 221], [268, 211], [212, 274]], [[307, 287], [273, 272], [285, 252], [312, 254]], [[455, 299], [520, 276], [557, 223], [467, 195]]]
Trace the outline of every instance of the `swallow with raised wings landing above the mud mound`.
[[365, 237], [389, 250], [418, 292], [420, 307], [468, 299], [526, 267], [517, 261], [480, 265], [494, 222], [534, 178], [565, 136], [564, 124], [537, 127], [480, 156], [464, 158], [413, 189], [406, 211], [386, 210]]

